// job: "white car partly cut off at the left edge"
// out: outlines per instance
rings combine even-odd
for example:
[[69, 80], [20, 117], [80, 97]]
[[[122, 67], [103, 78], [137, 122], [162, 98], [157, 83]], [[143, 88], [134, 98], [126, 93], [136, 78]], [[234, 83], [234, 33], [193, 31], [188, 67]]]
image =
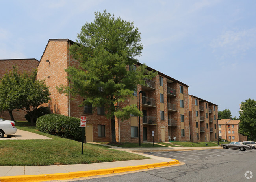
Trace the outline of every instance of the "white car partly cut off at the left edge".
[[15, 127], [14, 121], [4, 120], [0, 118], [0, 138], [4, 137], [4, 134], [11, 135], [16, 133], [17, 128]]

